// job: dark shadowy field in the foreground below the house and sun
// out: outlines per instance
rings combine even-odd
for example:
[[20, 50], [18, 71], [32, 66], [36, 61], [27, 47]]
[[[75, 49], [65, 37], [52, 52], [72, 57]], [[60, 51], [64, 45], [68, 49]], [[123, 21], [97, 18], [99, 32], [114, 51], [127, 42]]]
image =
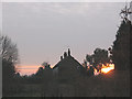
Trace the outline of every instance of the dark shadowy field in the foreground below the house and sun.
[[68, 82], [20, 84], [10, 97], [130, 97], [130, 72], [110, 72]]

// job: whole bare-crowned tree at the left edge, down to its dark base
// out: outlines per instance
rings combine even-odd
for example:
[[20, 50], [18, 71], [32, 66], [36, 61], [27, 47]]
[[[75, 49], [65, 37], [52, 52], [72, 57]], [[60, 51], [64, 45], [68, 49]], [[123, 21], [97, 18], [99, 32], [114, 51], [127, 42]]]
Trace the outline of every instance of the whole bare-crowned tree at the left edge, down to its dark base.
[[[2, 73], [12, 75], [15, 73], [14, 65], [18, 63], [18, 48], [8, 36], [0, 35], [0, 56], [2, 56]], [[4, 76], [3, 75], [3, 76]]]

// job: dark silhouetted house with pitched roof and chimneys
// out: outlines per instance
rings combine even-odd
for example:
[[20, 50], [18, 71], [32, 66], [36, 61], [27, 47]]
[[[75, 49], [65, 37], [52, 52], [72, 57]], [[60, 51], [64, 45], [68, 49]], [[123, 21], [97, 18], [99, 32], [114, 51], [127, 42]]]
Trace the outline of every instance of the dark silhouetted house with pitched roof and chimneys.
[[59, 80], [74, 79], [84, 74], [85, 68], [72, 55], [68, 48], [68, 55], [65, 52], [64, 58], [53, 67], [53, 74]]

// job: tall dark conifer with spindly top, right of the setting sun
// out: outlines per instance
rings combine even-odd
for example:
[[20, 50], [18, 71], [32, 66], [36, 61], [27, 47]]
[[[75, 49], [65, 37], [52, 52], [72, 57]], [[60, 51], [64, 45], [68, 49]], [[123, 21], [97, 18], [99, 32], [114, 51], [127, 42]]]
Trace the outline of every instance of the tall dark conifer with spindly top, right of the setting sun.
[[121, 11], [122, 22], [116, 35], [116, 41], [112, 45], [112, 61], [117, 70], [128, 69], [130, 67], [130, 36], [132, 36], [132, 24], [128, 19], [131, 13], [125, 7]]

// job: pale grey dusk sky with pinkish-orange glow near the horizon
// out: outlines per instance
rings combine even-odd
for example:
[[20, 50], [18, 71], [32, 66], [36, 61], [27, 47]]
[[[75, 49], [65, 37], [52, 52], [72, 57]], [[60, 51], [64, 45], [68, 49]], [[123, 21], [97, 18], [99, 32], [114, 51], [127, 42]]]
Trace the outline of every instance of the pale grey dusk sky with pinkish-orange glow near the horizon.
[[3, 2], [2, 33], [19, 48], [22, 74], [54, 66], [69, 47], [79, 62], [116, 40], [124, 2]]

